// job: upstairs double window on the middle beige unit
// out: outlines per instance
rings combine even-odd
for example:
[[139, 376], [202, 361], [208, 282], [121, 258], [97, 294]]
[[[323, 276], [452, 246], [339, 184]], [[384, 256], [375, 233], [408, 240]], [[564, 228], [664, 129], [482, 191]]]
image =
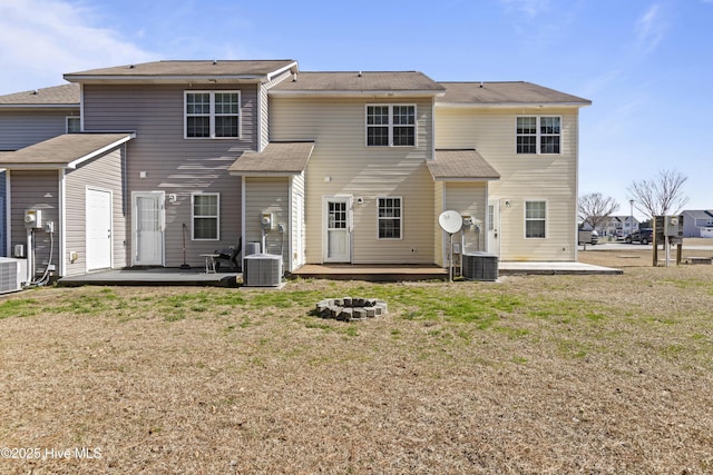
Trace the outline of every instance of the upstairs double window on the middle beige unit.
[[367, 146], [416, 146], [416, 106], [367, 106]]

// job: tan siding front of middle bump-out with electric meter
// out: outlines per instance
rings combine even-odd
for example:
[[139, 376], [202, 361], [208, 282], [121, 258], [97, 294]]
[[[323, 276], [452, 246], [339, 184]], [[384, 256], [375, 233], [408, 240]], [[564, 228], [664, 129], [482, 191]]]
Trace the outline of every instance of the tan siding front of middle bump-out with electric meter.
[[275, 255], [282, 251], [283, 263], [287, 263], [290, 248], [287, 236], [280, 232], [277, 225], [282, 222], [286, 227], [290, 222], [289, 180], [286, 177], [245, 178], [245, 241], [262, 243], [261, 217], [263, 212], [272, 212], [273, 228], [265, 235], [266, 248], [262, 251]]

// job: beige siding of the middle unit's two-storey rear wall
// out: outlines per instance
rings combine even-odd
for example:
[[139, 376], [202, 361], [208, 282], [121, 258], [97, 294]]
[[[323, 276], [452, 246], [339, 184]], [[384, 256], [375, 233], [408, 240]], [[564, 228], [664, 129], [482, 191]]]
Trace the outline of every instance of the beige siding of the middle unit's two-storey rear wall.
[[[315, 140], [306, 171], [307, 263], [323, 261], [323, 197], [336, 195], [353, 197], [352, 263], [433, 261], [431, 99], [398, 102], [417, 105], [416, 147], [365, 146], [365, 105], [397, 101], [271, 97], [272, 140]], [[403, 198], [402, 239], [378, 239], [379, 197]]]

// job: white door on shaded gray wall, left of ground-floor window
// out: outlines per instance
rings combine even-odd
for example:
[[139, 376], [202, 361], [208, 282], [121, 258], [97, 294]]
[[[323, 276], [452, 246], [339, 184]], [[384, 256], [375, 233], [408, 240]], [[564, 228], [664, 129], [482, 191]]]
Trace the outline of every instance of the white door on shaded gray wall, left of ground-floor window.
[[164, 194], [135, 192], [133, 196], [134, 265], [164, 264]]

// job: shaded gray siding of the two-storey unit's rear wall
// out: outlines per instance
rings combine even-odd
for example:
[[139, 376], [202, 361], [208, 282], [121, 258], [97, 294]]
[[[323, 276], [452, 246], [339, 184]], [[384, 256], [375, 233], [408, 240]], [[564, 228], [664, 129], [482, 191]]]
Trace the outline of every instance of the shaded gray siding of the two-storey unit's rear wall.
[[[164, 191], [165, 264], [183, 264], [183, 224], [186, 224], [186, 263], [203, 266], [205, 253], [237, 244], [241, 236], [241, 179], [227, 168], [245, 150], [256, 149], [257, 87], [255, 85], [193, 90], [241, 90], [240, 139], [184, 139], [184, 91], [188, 85], [97, 86], [85, 85], [85, 129], [136, 131], [127, 145], [128, 191]], [[140, 172], [146, 178], [140, 178]], [[194, 192], [217, 192], [221, 198], [219, 239], [192, 240]], [[175, 202], [168, 197], [176, 196]], [[131, 206], [127, 224], [131, 222]], [[131, 250], [131, 232], [127, 232]], [[130, 256], [130, 254], [129, 254]], [[130, 260], [130, 259], [129, 259]]]

